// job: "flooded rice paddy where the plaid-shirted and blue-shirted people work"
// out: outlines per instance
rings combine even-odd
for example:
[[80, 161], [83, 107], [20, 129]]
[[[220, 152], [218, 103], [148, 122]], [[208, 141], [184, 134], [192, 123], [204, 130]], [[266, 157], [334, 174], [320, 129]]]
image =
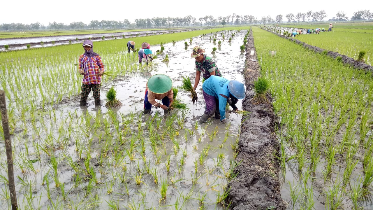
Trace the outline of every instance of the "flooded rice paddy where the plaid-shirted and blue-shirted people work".
[[[81, 44], [1, 52], [19, 209], [229, 209], [226, 185], [235, 177], [242, 116], [199, 125], [205, 108], [201, 81], [195, 104], [179, 90], [188, 109], [168, 115], [154, 106], [151, 115], [142, 109], [151, 75], [169, 75], [176, 88], [184, 76], [194, 81], [190, 54], [197, 45], [225, 78], [243, 82], [240, 46], [247, 32], [226, 27], [131, 38], [150, 43], [154, 54], [163, 44], [150, 65], [138, 64], [126, 39], [94, 42], [110, 72], [101, 83], [102, 104], [114, 87], [122, 103], [117, 108], [95, 106], [92, 95], [79, 106]], [[169, 62], [162, 62], [166, 55]], [[4, 149], [0, 158], [0, 209], [10, 209]]]

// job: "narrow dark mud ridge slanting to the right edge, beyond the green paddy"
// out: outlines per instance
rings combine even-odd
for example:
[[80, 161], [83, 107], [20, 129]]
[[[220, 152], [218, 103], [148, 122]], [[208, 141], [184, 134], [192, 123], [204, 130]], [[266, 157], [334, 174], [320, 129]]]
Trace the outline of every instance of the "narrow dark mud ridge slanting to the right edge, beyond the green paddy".
[[[266, 31], [268, 31], [270, 33], [276, 34], [276, 35], [278, 35], [281, 38], [285, 38], [287, 40], [293, 41], [294, 43], [300, 44], [304, 48], [313, 50], [316, 53], [322, 53], [323, 51], [325, 51], [325, 49], [322, 49], [320, 47], [316, 47], [316, 46], [304, 43], [303, 41], [300, 41], [300, 40], [297, 40], [297, 39], [294, 39], [294, 38], [291, 38], [291, 37], [287, 37], [287, 36], [284, 36], [284, 35], [277, 34], [277, 33], [273, 32], [273, 31], [267, 30], [265, 28], [261, 28], [261, 29], [266, 30]], [[327, 54], [326, 55], [328, 55], [328, 56], [330, 56], [330, 57], [332, 57], [334, 59], [336, 57], [340, 56], [342, 58], [342, 63], [344, 65], [347, 65], [347, 66], [350, 66], [350, 67], [354, 67], [356, 69], [361, 69], [361, 70], [373, 72], [373, 67], [371, 65], [367, 65], [367, 64], [364, 64], [363, 62], [356, 61], [355, 59], [350, 58], [347, 55], [342, 55], [342, 54], [339, 54], [337, 52], [333, 52], [333, 51], [330, 51], [330, 50], [327, 50]]]

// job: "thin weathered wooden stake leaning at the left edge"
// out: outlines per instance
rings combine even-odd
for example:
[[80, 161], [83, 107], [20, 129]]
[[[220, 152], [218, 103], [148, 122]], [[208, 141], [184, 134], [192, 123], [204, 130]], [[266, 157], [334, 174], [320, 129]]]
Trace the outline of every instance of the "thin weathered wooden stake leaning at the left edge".
[[0, 111], [1, 111], [1, 122], [3, 123], [6, 159], [7, 159], [7, 165], [8, 165], [8, 182], [9, 182], [10, 201], [12, 203], [12, 210], [17, 210], [17, 195], [16, 195], [16, 188], [14, 185], [14, 174], [13, 174], [12, 142], [10, 141], [8, 114], [6, 110], [4, 90], [0, 90]]

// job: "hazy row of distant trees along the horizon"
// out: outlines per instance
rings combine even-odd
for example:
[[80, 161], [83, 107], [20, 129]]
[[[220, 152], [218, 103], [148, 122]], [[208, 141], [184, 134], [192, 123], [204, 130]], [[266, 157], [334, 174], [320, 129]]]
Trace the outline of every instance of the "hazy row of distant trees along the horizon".
[[[305, 13], [298, 12], [288, 13], [285, 18], [288, 22], [316, 22], [323, 21], [327, 17], [325, 10], [315, 11], [308, 10]], [[348, 21], [349, 18], [345, 12], [338, 11], [335, 17], [329, 19], [329, 21]], [[350, 18], [351, 21], [370, 21], [373, 20], [373, 12], [369, 10], [358, 10], [353, 13]], [[216, 26], [216, 25], [246, 25], [246, 24], [274, 24], [284, 22], [282, 15], [277, 15], [275, 19], [272, 16], [263, 16], [262, 18], [256, 18], [253, 15], [228, 15], [225, 17], [206, 15], [200, 18], [192, 17], [191, 15], [185, 16], [184, 18], [168, 17], [168, 18], [141, 18], [135, 19], [134, 22], [124, 19], [123, 21], [108, 21], [108, 20], [92, 20], [89, 24], [84, 22], [71, 22], [69, 25], [64, 23], [50, 22], [47, 26], [40, 24], [40, 22], [32, 24], [21, 24], [21, 23], [10, 23], [1, 24], [0, 28], [3, 31], [8, 30], [64, 30], [64, 29], [125, 29], [125, 28], [163, 28], [163, 27], [186, 27], [186, 26]]]

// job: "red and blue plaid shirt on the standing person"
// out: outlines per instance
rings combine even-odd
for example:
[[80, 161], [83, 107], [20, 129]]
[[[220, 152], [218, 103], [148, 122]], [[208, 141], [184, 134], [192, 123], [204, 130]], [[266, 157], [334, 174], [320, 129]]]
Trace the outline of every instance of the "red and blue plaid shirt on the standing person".
[[84, 54], [79, 56], [78, 69], [84, 71], [82, 84], [100, 84], [100, 71], [104, 72], [104, 64], [101, 61], [101, 56], [95, 55], [88, 57]]

